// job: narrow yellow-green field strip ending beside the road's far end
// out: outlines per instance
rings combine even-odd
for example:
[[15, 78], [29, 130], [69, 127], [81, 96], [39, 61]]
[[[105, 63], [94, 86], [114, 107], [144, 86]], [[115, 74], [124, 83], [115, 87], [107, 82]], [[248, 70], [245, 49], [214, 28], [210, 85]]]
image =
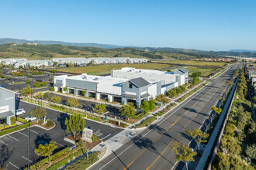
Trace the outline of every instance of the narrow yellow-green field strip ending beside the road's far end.
[[194, 66], [224, 66], [227, 63], [224, 62], [207, 62], [207, 61], [192, 61], [192, 60], [166, 60], [166, 61], [155, 61], [157, 63], [174, 63]]

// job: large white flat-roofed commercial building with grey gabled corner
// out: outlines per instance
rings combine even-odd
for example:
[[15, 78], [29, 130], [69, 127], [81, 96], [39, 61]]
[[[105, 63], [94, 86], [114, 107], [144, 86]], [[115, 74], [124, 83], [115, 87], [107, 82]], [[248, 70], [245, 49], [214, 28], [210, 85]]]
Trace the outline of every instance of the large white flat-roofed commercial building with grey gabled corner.
[[[132, 71], [124, 71], [132, 70]], [[97, 100], [109, 100], [126, 104], [133, 102], [140, 107], [143, 100], [150, 100], [161, 93], [178, 87], [186, 82], [185, 73], [160, 72], [157, 70], [135, 70], [123, 68], [112, 70], [111, 76], [55, 76], [54, 90], [67, 91], [74, 95], [94, 97]], [[85, 92], [84, 92], [85, 91]]]

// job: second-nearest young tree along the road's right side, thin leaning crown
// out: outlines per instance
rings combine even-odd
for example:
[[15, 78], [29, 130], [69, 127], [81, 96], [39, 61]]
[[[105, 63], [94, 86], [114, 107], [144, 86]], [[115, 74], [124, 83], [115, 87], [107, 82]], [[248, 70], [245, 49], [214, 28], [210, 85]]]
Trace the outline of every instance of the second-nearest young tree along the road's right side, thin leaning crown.
[[202, 132], [200, 129], [193, 129], [192, 131], [186, 130], [186, 132], [195, 140], [196, 144], [199, 147], [199, 151], [200, 151], [200, 144], [202, 142], [207, 141], [206, 138], [209, 137], [209, 134]]

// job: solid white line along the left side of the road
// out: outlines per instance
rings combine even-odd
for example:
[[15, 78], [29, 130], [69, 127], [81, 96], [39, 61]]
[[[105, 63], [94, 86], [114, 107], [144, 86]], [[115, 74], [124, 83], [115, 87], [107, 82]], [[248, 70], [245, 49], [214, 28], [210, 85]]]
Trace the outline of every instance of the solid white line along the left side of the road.
[[[220, 77], [218, 77], [218, 79], [219, 79]], [[218, 79], [216, 79], [216, 80], [218, 80]], [[211, 85], [213, 85], [213, 83], [215, 83], [216, 82], [216, 80], [213, 80], [213, 82], [211, 83]], [[220, 81], [219, 81], [220, 82]], [[218, 83], [219, 83], [218, 82]], [[209, 86], [209, 85], [208, 85]], [[206, 86], [206, 87], [208, 87], [208, 86]], [[202, 90], [205, 90], [206, 89], [206, 87], [202, 87], [200, 90], [198, 90], [197, 92], [195, 92], [195, 93], [197, 93], [197, 94], [195, 94], [195, 97], [197, 97], [201, 92], [202, 92]], [[213, 87], [212, 87], [213, 88]], [[211, 89], [211, 88], [210, 88]], [[209, 89], [209, 90], [210, 90]], [[200, 92], [200, 93], [199, 93]], [[194, 98], [195, 99], [195, 97], [192, 97], [192, 99]], [[187, 99], [189, 99], [189, 97], [187, 98]], [[186, 100], [187, 100], [186, 99]], [[184, 107], [185, 106], [185, 104], [188, 104], [189, 103], [189, 101], [191, 101], [191, 100], [187, 100], [185, 103], [182, 103], [182, 105], [181, 105], [181, 107]], [[178, 109], [179, 110], [179, 109]], [[168, 117], [171, 117], [171, 115], [172, 114], [175, 114], [178, 110], [175, 110], [174, 112], [172, 112], [170, 115], [168, 115]], [[171, 110], [169, 110], [168, 112], [170, 112]], [[163, 123], [166, 119], [168, 119], [168, 117], [166, 117], [163, 121], [161, 121], [161, 122], [159, 122], [159, 124], [161, 124], [161, 123]], [[158, 125], [159, 125], [158, 124]], [[153, 129], [151, 129], [150, 131], [153, 131], [155, 128], [153, 128]], [[144, 138], [144, 136], [146, 136], [147, 134], [149, 134], [150, 133], [150, 131], [147, 131], [147, 133], [146, 134], [144, 134], [143, 136], [141, 136], [139, 139], [137, 139], [137, 141], [140, 141], [142, 138]], [[136, 143], [137, 143], [137, 141], [135, 141], [135, 142], [133, 142], [133, 144], [132, 145], [130, 145], [129, 147], [127, 147], [125, 150], [123, 150], [121, 153], [119, 153], [119, 155], [122, 155], [125, 151], [127, 151], [129, 148], [131, 148], [133, 145], [135, 145]], [[117, 155], [117, 156], [119, 156], [119, 155]], [[112, 162], [113, 160], [115, 160], [117, 157], [114, 157], [114, 158], [112, 158], [109, 162], [107, 162], [105, 165], [103, 165], [101, 168], [99, 168], [99, 170], [101, 170], [102, 168], [104, 168], [106, 165], [108, 165], [110, 162]]]

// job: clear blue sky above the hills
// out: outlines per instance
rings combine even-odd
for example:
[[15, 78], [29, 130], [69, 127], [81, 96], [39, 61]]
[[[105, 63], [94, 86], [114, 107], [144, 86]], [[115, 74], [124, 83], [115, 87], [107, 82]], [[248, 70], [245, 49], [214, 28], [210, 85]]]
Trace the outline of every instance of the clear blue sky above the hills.
[[256, 50], [254, 0], [0, 0], [0, 38]]

